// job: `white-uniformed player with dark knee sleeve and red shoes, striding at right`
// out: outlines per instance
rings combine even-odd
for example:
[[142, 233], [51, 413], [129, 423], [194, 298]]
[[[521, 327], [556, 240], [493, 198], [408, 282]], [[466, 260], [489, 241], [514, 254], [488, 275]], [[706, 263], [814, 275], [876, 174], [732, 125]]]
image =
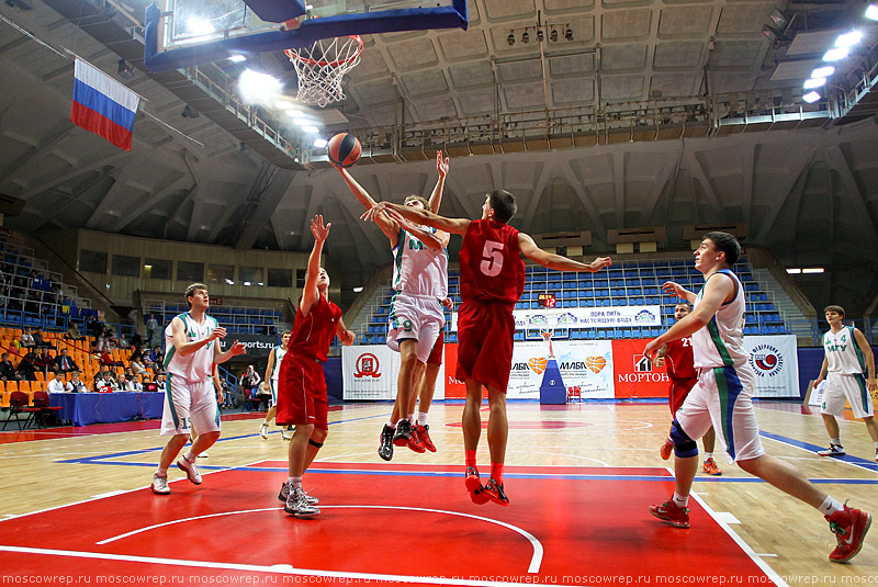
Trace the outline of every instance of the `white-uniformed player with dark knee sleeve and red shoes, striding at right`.
[[801, 499], [824, 515], [837, 545], [830, 561], [844, 563], [856, 556], [871, 524], [871, 516], [833, 499], [809, 482], [796, 467], [765, 453], [751, 398], [755, 376], [744, 349], [744, 292], [730, 268], [741, 256], [741, 245], [725, 233], [708, 233], [695, 251], [695, 267], [705, 275], [696, 295], [674, 282], [662, 289], [694, 304], [693, 312], [650, 341], [643, 353], [653, 358], [663, 345], [691, 335], [698, 383], [671, 427], [674, 442], [674, 496], [650, 512], [676, 528], [689, 528], [689, 501], [698, 445], [710, 426], [731, 459], [747, 473]]

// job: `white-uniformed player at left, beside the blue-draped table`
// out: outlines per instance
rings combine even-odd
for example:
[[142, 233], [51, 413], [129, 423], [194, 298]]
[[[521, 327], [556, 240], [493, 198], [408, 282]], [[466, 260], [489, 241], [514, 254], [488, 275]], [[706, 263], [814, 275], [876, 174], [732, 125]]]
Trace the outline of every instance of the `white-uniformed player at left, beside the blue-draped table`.
[[195, 459], [219, 438], [219, 408], [213, 387], [214, 363], [223, 363], [244, 354], [244, 345], [237, 340], [226, 351], [219, 350], [217, 339], [225, 338], [226, 329], [207, 316], [211, 298], [207, 286], [193, 283], [185, 290], [189, 312], [176, 316], [165, 329], [165, 371], [168, 374], [165, 394], [165, 413], [161, 416], [161, 436], [171, 436], [161, 451], [158, 470], [153, 475], [153, 493], [166, 495], [168, 467], [189, 440], [192, 426], [199, 436], [177, 466], [192, 483], [201, 484]]

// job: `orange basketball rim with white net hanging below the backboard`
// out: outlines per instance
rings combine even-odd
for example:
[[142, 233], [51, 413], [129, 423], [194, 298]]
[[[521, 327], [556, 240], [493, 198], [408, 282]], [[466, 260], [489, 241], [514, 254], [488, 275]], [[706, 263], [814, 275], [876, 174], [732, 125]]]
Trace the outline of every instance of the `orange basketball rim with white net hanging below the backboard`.
[[345, 100], [341, 78], [360, 63], [362, 52], [359, 35], [318, 38], [311, 47], [285, 49], [299, 76], [296, 98], [320, 108]]

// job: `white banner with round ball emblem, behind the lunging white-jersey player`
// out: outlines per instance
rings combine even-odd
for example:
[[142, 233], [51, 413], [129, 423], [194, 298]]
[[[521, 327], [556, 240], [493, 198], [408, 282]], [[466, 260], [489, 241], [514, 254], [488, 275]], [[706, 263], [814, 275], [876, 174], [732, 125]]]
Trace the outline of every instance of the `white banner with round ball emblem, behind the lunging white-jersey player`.
[[796, 335], [746, 336], [744, 347], [756, 372], [754, 397], [801, 397]]

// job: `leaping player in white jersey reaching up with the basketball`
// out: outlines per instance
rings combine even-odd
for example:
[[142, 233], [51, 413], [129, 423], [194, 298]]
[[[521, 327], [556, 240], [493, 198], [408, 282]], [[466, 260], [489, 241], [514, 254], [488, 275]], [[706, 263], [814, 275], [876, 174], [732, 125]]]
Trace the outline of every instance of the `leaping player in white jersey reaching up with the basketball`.
[[[436, 154], [439, 179], [429, 202], [409, 195], [405, 205], [439, 212], [448, 173], [448, 158]], [[348, 188], [367, 212], [375, 201], [342, 167], [337, 167]], [[449, 234], [425, 226], [415, 226], [398, 214], [386, 212], [375, 218], [387, 237], [393, 251], [393, 295], [390, 311], [387, 346], [399, 352], [399, 374], [396, 381], [396, 403], [387, 424], [381, 431], [378, 453], [385, 461], [393, 458], [393, 447], [408, 445], [424, 452], [420, 434], [426, 434], [426, 420], [415, 418], [416, 390], [426, 370], [427, 359], [442, 331], [444, 313], [442, 300], [448, 296]], [[431, 387], [429, 387], [431, 390]], [[431, 397], [429, 399], [432, 399]], [[424, 410], [429, 402], [423, 400]], [[423, 413], [426, 418], [426, 411]], [[431, 444], [431, 442], [430, 442]]]

